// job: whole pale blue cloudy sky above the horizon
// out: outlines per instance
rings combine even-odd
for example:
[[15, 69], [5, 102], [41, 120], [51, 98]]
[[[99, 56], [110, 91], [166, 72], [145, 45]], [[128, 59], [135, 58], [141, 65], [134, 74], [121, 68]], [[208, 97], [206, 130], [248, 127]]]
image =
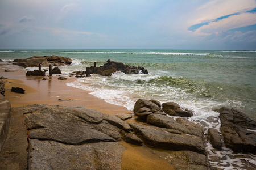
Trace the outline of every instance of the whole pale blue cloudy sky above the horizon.
[[0, 0], [0, 49], [256, 50], [256, 0]]

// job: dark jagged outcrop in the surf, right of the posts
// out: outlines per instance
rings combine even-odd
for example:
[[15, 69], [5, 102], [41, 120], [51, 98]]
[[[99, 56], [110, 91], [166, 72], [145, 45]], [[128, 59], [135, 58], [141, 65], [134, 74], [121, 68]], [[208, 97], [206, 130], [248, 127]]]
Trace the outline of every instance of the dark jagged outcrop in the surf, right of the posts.
[[103, 66], [100, 67], [86, 67], [87, 74], [100, 74], [103, 76], [110, 76], [116, 71], [121, 71], [125, 74], [148, 74], [148, 71], [144, 67], [135, 67], [125, 65], [121, 62], [111, 61], [110, 59]]

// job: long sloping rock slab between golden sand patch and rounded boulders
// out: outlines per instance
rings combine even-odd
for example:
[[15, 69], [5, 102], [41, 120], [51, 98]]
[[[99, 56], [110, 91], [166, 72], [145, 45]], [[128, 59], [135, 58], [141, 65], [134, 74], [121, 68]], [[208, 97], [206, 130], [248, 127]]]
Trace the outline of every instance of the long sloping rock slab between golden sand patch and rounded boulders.
[[171, 133], [166, 128], [130, 123], [135, 134], [147, 146], [166, 150], [188, 150], [205, 154], [205, 143], [200, 137]]

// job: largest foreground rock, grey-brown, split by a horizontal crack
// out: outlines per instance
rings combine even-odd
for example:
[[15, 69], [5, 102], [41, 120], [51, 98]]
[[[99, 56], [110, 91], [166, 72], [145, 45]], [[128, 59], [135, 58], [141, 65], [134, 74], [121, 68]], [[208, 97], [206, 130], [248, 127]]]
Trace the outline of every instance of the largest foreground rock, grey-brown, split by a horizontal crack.
[[29, 137], [31, 169], [121, 169], [125, 147], [120, 118], [85, 107], [35, 104], [20, 107]]

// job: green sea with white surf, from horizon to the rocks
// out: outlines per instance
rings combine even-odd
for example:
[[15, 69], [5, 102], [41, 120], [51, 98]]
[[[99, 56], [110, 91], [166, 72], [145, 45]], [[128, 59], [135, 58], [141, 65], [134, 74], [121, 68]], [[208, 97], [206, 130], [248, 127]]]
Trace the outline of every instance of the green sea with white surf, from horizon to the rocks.
[[67, 83], [130, 111], [138, 99], [156, 99], [192, 110], [189, 120], [208, 128], [220, 128], [221, 107], [238, 109], [256, 120], [255, 50], [0, 50], [0, 59], [6, 62], [51, 55], [72, 58], [70, 66], [59, 67], [67, 76], [94, 62], [102, 66], [108, 59], [145, 67], [148, 75], [117, 72]]

